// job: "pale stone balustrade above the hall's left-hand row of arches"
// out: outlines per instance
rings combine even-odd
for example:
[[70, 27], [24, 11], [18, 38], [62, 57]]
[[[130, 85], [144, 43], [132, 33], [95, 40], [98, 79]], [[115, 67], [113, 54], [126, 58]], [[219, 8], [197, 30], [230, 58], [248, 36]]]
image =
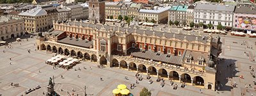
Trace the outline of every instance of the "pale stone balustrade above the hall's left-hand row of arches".
[[70, 46], [70, 45], [67, 45], [67, 44], [60, 44], [60, 43], [57, 43], [57, 42], [51, 42], [51, 41], [41, 41], [43, 44], [47, 45], [55, 45], [55, 46], [61, 46], [63, 48], [69, 48], [69, 49], [74, 49], [76, 51], [84, 51], [84, 52], [89, 52], [89, 53], [92, 53], [92, 54], [97, 54], [97, 51], [94, 50], [94, 49], [87, 49], [87, 48], [84, 48], [84, 47], [77, 47], [77, 46]]

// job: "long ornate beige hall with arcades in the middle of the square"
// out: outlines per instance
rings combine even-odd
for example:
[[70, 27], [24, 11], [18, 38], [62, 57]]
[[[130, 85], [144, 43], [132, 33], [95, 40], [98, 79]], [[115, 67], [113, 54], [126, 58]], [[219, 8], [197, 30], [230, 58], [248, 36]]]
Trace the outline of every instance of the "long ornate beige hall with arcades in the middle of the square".
[[214, 90], [220, 37], [121, 28], [82, 21], [53, 22], [39, 50], [127, 68]]

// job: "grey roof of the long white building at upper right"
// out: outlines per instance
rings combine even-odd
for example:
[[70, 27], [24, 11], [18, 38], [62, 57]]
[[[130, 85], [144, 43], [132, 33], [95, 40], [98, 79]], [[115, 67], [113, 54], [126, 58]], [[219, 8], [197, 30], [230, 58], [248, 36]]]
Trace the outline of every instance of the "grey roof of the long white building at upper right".
[[234, 5], [220, 5], [220, 4], [196, 4], [195, 10], [214, 10], [221, 12], [234, 12]]

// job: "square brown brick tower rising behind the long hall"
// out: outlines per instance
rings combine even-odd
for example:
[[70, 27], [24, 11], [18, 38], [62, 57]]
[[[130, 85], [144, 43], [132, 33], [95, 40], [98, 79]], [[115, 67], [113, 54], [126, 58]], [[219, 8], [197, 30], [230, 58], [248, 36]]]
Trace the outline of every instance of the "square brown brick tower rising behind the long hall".
[[89, 2], [89, 22], [93, 24], [105, 22], [105, 1], [90, 0]]

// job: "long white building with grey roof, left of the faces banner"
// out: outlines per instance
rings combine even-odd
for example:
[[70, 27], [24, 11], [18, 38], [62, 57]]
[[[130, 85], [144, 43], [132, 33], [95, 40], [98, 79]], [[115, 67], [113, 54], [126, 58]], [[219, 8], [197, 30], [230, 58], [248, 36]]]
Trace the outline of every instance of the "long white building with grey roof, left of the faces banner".
[[217, 29], [218, 24], [225, 29], [231, 29], [234, 10], [233, 5], [196, 4], [194, 22], [197, 24], [196, 27], [199, 22], [203, 22], [205, 25], [212, 24], [212, 29]]

